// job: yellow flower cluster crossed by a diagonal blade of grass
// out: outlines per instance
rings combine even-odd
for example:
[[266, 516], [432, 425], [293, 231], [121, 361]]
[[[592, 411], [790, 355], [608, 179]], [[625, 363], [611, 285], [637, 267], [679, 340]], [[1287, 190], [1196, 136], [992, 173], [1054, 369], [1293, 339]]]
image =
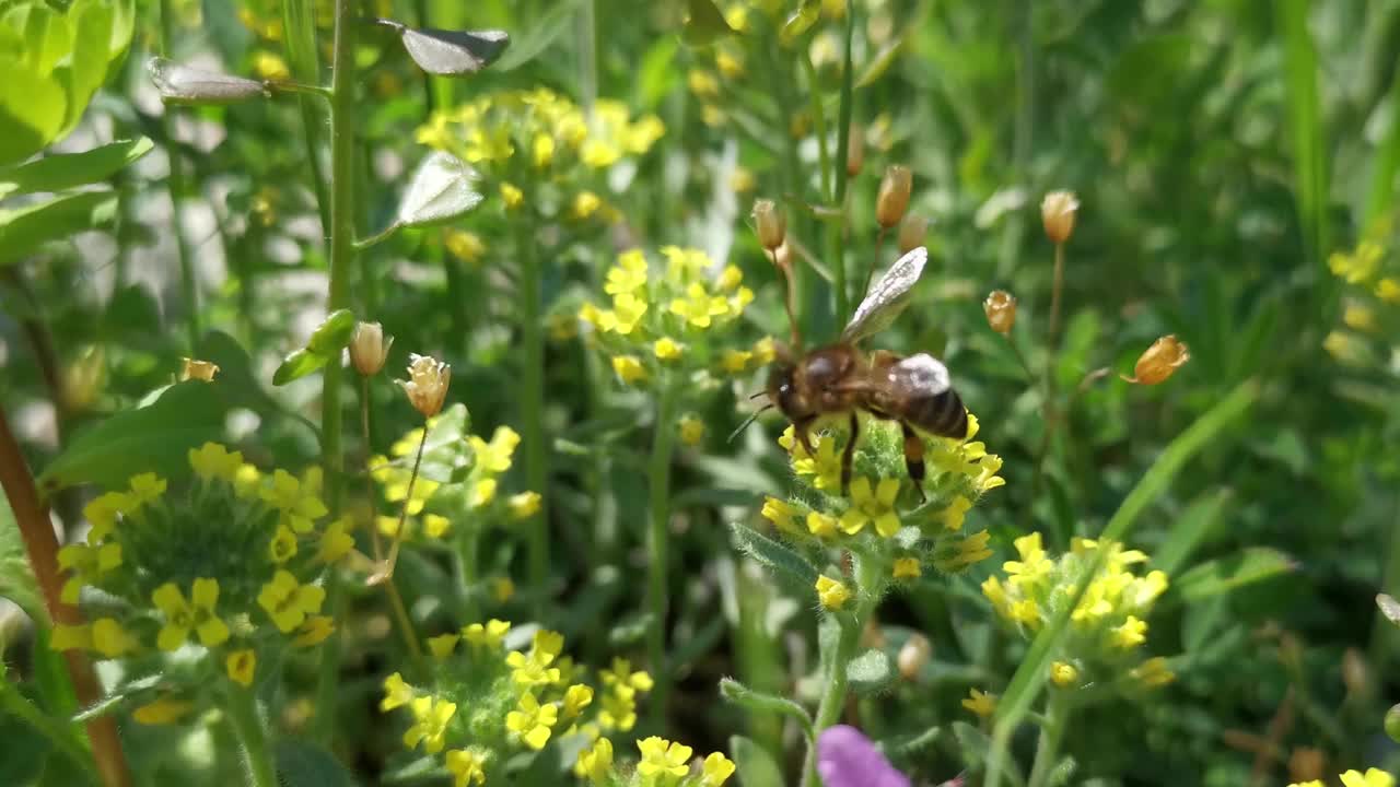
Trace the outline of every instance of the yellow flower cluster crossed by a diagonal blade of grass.
[[[983, 595], [1000, 618], [1033, 636], [1054, 615], [1056, 605], [1072, 594], [1089, 563], [1102, 556], [1102, 567], [1089, 583], [1079, 605], [1070, 613], [1070, 636], [1061, 660], [1050, 667], [1050, 679], [1061, 688], [1077, 688], [1086, 681], [1120, 676], [1127, 662], [1135, 661], [1138, 646], [1147, 641], [1147, 615], [1166, 591], [1166, 574], [1133, 573], [1133, 566], [1148, 556], [1119, 543], [1075, 538], [1071, 550], [1051, 559], [1042, 546], [1040, 534], [1015, 541], [1019, 560], [1002, 564], [1005, 577], [991, 576], [983, 583]], [[1161, 658], [1138, 664], [1128, 674], [1138, 685], [1159, 686], [1172, 681]]]

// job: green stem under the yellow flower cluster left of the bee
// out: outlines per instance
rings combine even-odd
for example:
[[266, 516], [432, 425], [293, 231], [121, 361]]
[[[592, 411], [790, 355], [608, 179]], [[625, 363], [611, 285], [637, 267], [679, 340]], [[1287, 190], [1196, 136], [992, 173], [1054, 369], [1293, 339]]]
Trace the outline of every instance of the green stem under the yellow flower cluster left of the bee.
[[657, 399], [657, 422], [651, 437], [650, 528], [647, 531], [647, 609], [651, 626], [647, 629], [647, 660], [655, 688], [651, 692], [651, 714], [665, 721], [666, 699], [671, 693], [671, 669], [666, 667], [666, 606], [668, 571], [666, 543], [671, 529], [671, 454], [676, 443], [676, 406], [680, 389], [671, 381], [661, 388]]

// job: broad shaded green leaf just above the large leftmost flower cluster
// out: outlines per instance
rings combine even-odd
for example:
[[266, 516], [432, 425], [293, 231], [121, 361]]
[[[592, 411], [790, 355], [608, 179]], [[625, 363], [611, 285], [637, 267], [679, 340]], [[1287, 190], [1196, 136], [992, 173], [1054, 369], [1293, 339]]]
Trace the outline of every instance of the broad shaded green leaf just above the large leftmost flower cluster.
[[39, 476], [52, 494], [78, 483], [125, 487], [137, 473], [178, 478], [189, 450], [224, 433], [227, 405], [218, 381], [189, 379], [161, 389], [146, 406], [123, 410], [78, 434]]

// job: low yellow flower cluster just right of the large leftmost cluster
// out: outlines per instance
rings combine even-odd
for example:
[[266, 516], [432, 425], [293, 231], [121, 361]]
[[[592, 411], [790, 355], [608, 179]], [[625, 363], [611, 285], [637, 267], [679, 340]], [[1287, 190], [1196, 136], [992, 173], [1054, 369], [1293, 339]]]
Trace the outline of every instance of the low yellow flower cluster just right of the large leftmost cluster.
[[[612, 744], [602, 735], [631, 730], [636, 696], [651, 689], [651, 676], [615, 660], [610, 671], [599, 672], [602, 688], [595, 690], [584, 669], [563, 655], [563, 634], [538, 630], [529, 648], [507, 650], [510, 630], [505, 620], [489, 620], [428, 639], [437, 689], [413, 686], [398, 672], [385, 679], [379, 709], [406, 707], [412, 714], [403, 745], [441, 753], [458, 787], [484, 784], [517, 751], [538, 752], [577, 735], [591, 748], [575, 772], [606, 772]], [[595, 703], [598, 692], [602, 702]], [[470, 709], [469, 718], [459, 709]]]

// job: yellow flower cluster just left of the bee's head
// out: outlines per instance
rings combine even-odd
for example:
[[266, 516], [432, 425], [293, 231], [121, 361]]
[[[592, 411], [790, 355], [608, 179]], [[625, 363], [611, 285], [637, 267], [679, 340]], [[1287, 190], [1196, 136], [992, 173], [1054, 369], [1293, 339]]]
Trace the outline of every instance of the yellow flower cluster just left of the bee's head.
[[748, 350], [721, 346], [753, 301], [743, 273], [722, 269], [700, 249], [662, 246], [664, 269], [654, 269], [641, 249], [630, 249], [608, 270], [608, 308], [585, 302], [578, 312], [594, 339], [612, 356], [627, 385], [640, 385], [671, 370], [713, 370], [732, 377], [771, 363], [771, 339]]

